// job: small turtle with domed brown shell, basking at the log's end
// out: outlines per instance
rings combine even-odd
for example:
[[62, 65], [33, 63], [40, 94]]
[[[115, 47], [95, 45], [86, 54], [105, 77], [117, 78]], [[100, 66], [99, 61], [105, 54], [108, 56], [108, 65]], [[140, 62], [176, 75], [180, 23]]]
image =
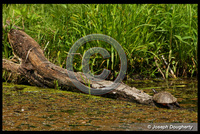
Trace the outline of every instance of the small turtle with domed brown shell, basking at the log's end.
[[168, 107], [170, 109], [173, 109], [173, 104], [176, 106], [180, 107], [180, 105], [177, 102], [177, 98], [175, 98], [171, 93], [162, 91], [162, 92], [157, 92], [155, 89], [152, 89], [154, 92], [153, 96], [153, 101], [161, 104], [165, 107]]

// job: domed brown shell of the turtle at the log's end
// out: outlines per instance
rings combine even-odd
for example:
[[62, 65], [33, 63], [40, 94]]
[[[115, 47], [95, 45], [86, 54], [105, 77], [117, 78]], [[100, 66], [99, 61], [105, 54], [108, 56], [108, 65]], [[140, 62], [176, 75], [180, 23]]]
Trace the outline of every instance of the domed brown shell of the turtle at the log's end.
[[153, 96], [153, 100], [157, 103], [175, 103], [177, 98], [175, 98], [171, 93], [159, 92]]

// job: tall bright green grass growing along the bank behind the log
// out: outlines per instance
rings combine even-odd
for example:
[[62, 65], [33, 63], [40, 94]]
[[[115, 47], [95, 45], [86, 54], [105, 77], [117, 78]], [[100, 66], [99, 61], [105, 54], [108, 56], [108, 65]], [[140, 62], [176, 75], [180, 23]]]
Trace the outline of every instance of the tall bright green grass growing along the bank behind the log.
[[[196, 76], [198, 73], [197, 4], [4, 4], [3, 24], [24, 27], [45, 49], [45, 56], [54, 64], [66, 66], [67, 52], [81, 37], [101, 33], [117, 40], [127, 55], [127, 74], [144, 77], [162, 77], [155, 64], [168, 77], [168, 67], [175, 75]], [[3, 29], [3, 58], [11, 58], [12, 50]], [[48, 43], [49, 42], [49, 43]], [[47, 45], [48, 44], [48, 45]], [[91, 47], [108, 50], [111, 57], [91, 57], [92, 72], [99, 74], [103, 68], [120, 70], [120, 59], [111, 45], [92, 41], [81, 46], [82, 56]], [[75, 55], [74, 69], [81, 71], [81, 56]]]

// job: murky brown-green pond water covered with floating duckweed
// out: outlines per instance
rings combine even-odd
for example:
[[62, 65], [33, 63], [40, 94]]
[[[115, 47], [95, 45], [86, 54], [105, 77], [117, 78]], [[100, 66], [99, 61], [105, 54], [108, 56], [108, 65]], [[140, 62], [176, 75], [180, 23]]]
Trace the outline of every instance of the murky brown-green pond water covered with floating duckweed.
[[[153, 95], [171, 92], [181, 109], [166, 109], [83, 93], [3, 83], [3, 130], [141, 130], [137, 123], [197, 123], [197, 80], [131, 81]], [[181, 86], [182, 85], [182, 86]], [[183, 86], [185, 85], [185, 86]]]

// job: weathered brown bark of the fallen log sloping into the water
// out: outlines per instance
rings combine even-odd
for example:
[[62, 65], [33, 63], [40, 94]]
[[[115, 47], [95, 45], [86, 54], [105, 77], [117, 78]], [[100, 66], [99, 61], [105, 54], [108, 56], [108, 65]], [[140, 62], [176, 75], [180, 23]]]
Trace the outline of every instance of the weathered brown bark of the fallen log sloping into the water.
[[[9, 42], [13, 48], [14, 55], [18, 56], [21, 63], [16, 64], [11, 61], [3, 60], [3, 69], [17, 72], [27, 79], [27, 81], [36, 86], [41, 87], [54, 87], [55, 81], [61, 87], [73, 87], [72, 90], [77, 90], [70, 79], [66, 69], [54, 65], [49, 62], [43, 51], [40, 49], [40, 45], [32, 39], [29, 35], [21, 30], [11, 29], [8, 33]], [[10, 66], [9, 66], [10, 64]], [[13, 67], [15, 64], [15, 67]], [[83, 80], [80, 77], [81, 72], [75, 73], [77, 79], [87, 84], [87, 78], [81, 73]], [[93, 88], [101, 88], [112, 84], [112, 81], [90, 81], [90, 85]], [[135, 87], [129, 87], [128, 85], [121, 83], [115, 90], [106, 94], [106, 96], [115, 96], [115, 98], [137, 101], [143, 104], [152, 104], [152, 97], [148, 94], [136, 89]], [[105, 96], [105, 95], [104, 95]]]

